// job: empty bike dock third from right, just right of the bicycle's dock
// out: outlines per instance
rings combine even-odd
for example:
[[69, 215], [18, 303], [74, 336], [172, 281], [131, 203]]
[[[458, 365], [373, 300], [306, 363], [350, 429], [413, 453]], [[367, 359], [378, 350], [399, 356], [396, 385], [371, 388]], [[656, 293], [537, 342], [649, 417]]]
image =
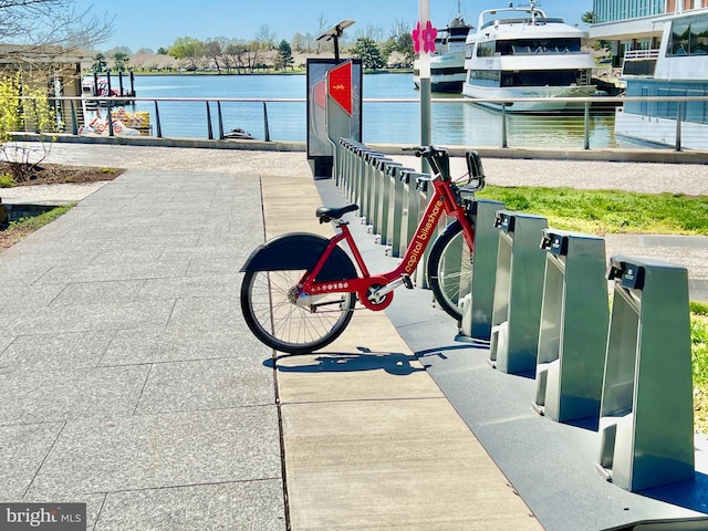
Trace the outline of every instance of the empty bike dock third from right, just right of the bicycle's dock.
[[504, 373], [535, 371], [545, 252], [541, 216], [500, 210], [489, 362]]

